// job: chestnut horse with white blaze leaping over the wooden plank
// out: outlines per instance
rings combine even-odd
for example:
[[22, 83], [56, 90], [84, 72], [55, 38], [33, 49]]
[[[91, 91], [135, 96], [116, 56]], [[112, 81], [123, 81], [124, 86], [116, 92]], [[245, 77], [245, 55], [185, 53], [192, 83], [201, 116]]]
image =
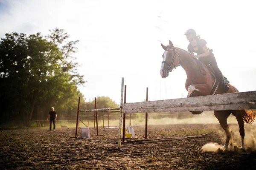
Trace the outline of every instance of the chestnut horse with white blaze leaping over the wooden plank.
[[[161, 43], [162, 48], [165, 50], [163, 53], [163, 62], [160, 68], [162, 78], [169, 76], [177, 66], [181, 66], [187, 75], [185, 88], [188, 91], [188, 97], [193, 96], [206, 96], [212, 91], [212, 86], [215, 83], [215, 76], [211, 74], [211, 69], [194, 58], [192, 54], [181, 48], [174, 47], [169, 40], [169, 45], [165, 46]], [[222, 92], [218, 87], [215, 94], [227, 94], [239, 92], [230, 83], [227, 84], [230, 89], [227, 92]], [[203, 111], [192, 111], [193, 114], [201, 114]], [[214, 111], [215, 117], [218, 119], [221, 127], [226, 132], [226, 142], [222, 148], [227, 149], [230, 145], [233, 146], [233, 136], [230, 127], [227, 125], [227, 118], [230, 114], [236, 116], [239, 124], [239, 133], [241, 135], [241, 149], [244, 148], [244, 123], [251, 124], [254, 121], [255, 113], [247, 110], [230, 110], [230, 111]]]

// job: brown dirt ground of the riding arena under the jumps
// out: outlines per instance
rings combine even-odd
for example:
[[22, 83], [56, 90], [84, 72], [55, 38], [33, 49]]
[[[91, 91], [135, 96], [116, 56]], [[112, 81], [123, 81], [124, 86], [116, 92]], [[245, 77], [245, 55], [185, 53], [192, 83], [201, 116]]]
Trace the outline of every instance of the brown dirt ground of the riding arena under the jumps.
[[[99, 135], [102, 136], [96, 136], [96, 129], [90, 128], [92, 139], [70, 138], [75, 135], [74, 128], [58, 128], [56, 131], [45, 128], [0, 130], [0, 169], [256, 169], [256, 152], [251, 147], [238, 149], [241, 146], [238, 125], [230, 127], [235, 149], [218, 150], [217, 153], [203, 152], [202, 147], [207, 143], [224, 144], [224, 130], [218, 124], [151, 125], [148, 126], [148, 139], [204, 133], [208, 136], [124, 143], [122, 148], [127, 149], [124, 152], [108, 151], [117, 146], [116, 128], [99, 127]], [[253, 131], [256, 125], [248, 127]], [[135, 126], [134, 130], [137, 139], [144, 139], [144, 126]], [[253, 134], [245, 133], [245, 138], [253, 137]]]

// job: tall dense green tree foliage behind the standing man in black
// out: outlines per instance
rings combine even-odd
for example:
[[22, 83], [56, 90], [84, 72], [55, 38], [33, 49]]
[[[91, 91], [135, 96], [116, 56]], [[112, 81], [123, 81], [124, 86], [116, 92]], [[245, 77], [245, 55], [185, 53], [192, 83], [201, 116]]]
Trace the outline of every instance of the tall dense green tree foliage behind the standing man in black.
[[85, 81], [77, 73], [78, 63], [73, 57], [79, 41], [67, 42], [68, 38], [64, 30], [56, 28], [45, 37], [12, 33], [1, 39], [2, 120], [22, 118], [30, 123], [35, 108], [49, 111], [51, 105], [62, 112], [73, 109], [81, 95], [78, 85]]

